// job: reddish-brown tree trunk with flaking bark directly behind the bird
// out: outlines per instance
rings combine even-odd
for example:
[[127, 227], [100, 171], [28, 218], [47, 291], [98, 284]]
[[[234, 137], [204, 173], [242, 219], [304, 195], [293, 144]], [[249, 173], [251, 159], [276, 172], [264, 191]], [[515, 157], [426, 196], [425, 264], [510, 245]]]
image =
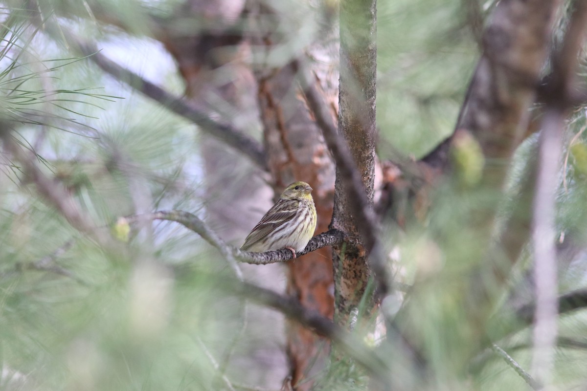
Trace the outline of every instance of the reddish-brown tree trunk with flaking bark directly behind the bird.
[[[308, 182], [314, 189], [312, 195], [318, 213], [316, 233], [325, 232], [332, 216], [333, 162], [305, 102], [291, 88], [295, 85], [294, 67], [289, 64], [257, 74], [265, 148], [275, 188], [281, 191], [294, 180]], [[304, 307], [332, 318], [330, 251], [323, 248], [290, 261], [288, 271], [287, 294], [298, 298]], [[310, 389], [313, 382], [299, 383], [323, 368], [329, 342], [295, 322], [288, 323], [287, 334], [292, 385], [299, 390]]]

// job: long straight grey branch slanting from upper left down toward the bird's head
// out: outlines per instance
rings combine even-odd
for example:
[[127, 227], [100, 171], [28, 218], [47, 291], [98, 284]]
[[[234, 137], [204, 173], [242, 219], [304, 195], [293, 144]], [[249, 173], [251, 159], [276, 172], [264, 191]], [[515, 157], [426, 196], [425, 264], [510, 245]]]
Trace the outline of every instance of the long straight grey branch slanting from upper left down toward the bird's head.
[[247, 134], [232, 127], [232, 125], [223, 124], [213, 120], [207, 114], [190, 106], [190, 104], [184, 99], [173, 96], [171, 93], [168, 93], [156, 84], [151, 83], [149, 80], [143, 79], [139, 74], [113, 62], [106, 56], [102, 55], [96, 45], [83, 42], [83, 40], [77, 38], [63, 26], [57, 27], [54, 22], [45, 21], [45, 23], [42, 23], [39, 18], [33, 19], [39, 25], [45, 26], [45, 30], [54, 39], [60, 37], [65, 39], [66, 44], [72, 52], [87, 56], [88, 59], [92, 60], [92, 62], [99, 66], [104, 72], [109, 73], [115, 79], [128, 84], [131, 88], [139, 91], [154, 101], [157, 101], [161, 106], [166, 107], [173, 113], [187, 118], [212, 137], [230, 145], [230, 147], [249, 157], [259, 167], [267, 169], [263, 148], [257, 141], [249, 137]]

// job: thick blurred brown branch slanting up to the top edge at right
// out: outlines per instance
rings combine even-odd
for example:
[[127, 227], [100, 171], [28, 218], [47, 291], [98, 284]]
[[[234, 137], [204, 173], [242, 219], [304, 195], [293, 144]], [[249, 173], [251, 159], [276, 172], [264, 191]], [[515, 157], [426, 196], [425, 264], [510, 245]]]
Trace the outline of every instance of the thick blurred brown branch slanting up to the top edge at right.
[[[477, 63], [455, 130], [471, 132], [485, 159], [509, 159], [522, 141], [548, 55], [552, 21], [561, 1], [501, 1], [483, 34]], [[446, 169], [452, 135], [423, 161]], [[486, 169], [500, 185], [507, 165]]]

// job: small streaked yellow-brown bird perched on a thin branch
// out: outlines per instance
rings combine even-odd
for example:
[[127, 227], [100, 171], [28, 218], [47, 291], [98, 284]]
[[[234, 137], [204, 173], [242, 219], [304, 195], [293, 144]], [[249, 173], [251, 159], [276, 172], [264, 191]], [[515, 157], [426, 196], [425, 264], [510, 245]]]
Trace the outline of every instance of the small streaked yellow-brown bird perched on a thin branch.
[[261, 253], [288, 249], [295, 259], [316, 229], [316, 206], [311, 192], [306, 182], [298, 181], [286, 187], [275, 205], [248, 234], [241, 250]]

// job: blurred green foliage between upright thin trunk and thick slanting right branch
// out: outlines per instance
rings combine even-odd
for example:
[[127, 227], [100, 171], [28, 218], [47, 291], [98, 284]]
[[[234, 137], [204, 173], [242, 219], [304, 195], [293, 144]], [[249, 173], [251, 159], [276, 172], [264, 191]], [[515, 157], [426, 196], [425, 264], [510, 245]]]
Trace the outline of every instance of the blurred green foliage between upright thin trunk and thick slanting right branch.
[[[419, 158], [454, 130], [478, 58], [462, 1], [377, 4], [377, 126]], [[385, 144], [378, 152], [388, 157]]]

